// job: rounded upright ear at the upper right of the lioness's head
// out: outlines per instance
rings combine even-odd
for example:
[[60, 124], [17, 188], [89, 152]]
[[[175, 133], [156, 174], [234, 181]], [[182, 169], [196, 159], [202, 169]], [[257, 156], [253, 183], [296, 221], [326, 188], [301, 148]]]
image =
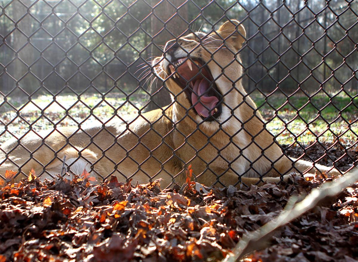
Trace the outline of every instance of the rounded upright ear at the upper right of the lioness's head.
[[231, 44], [236, 50], [241, 48], [246, 37], [245, 28], [237, 20], [229, 20], [222, 24], [218, 33], [226, 43]]

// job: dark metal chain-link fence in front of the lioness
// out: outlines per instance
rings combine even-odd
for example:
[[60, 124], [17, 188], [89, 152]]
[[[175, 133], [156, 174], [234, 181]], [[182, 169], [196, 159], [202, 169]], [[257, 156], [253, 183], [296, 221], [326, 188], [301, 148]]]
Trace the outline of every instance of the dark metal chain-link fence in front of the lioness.
[[228, 186], [357, 164], [357, 0], [0, 6], [3, 179], [171, 186], [190, 165]]

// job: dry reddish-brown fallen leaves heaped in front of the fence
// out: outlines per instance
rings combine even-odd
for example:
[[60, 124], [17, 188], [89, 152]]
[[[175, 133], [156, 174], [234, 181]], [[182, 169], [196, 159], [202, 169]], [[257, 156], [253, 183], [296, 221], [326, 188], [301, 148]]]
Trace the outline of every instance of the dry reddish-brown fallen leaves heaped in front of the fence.
[[[132, 186], [112, 176], [40, 182], [35, 176], [0, 188], [0, 261], [219, 261], [243, 233], [277, 216], [292, 194], [322, 182], [237, 190], [161, 190], [160, 181]], [[345, 189], [277, 231], [269, 248], [245, 261], [355, 261], [358, 189]]]

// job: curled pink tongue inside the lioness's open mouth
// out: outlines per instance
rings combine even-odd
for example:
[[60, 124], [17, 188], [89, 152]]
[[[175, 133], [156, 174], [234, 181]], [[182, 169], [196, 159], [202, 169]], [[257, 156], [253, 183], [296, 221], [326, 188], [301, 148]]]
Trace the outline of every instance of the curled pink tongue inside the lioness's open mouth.
[[[205, 78], [201, 80], [196, 80], [193, 86], [194, 92], [192, 93], [192, 103], [194, 105], [195, 110], [197, 110], [199, 115], [202, 115], [203, 117], [208, 117], [209, 112], [211, 115], [214, 114], [214, 107], [219, 102], [219, 99], [217, 97], [207, 97], [207, 93], [205, 93], [209, 89], [209, 81]], [[197, 95], [198, 94], [198, 95]], [[204, 95], [202, 95], [204, 94]], [[195, 105], [195, 103], [198, 102], [198, 96], [200, 96], [200, 102]]]

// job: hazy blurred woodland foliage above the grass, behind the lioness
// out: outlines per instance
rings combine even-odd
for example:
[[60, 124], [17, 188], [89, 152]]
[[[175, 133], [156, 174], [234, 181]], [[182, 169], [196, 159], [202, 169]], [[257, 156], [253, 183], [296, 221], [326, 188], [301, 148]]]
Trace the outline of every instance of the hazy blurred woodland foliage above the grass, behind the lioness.
[[[15, 72], [16, 78], [27, 74], [20, 86], [29, 94], [36, 90], [59, 92], [63, 88], [83, 92], [92, 87], [101, 92], [122, 88], [130, 93], [138, 87], [136, 78], [145, 70], [137, 71], [138, 66], [150, 59], [152, 41], [155, 41], [151, 23], [157, 18], [151, 12], [156, 1], [38, 1], [30, 7], [33, 17], [18, 24], [35, 47], [27, 44], [20, 50], [19, 58], [27, 64], [19, 63], [14, 68], [8, 63], [15, 59], [18, 50], [12, 48], [20, 48], [27, 41], [16, 30], [9, 34], [15, 28], [9, 19], [15, 17], [15, 10], [19, 18], [26, 13], [26, 8], [17, 3], [1, 3], [7, 16], [0, 16], [0, 34], [6, 41], [0, 45], [0, 65], [6, 66], [9, 73], [0, 77], [3, 91], [15, 87], [16, 79], [11, 79]], [[26, 0], [24, 3], [31, 4]], [[248, 41], [240, 55], [248, 68], [245, 73], [249, 77], [243, 81], [249, 91], [258, 87], [270, 92], [280, 85], [290, 92], [297, 86], [315, 92], [317, 81], [325, 80], [325, 88], [329, 90], [340, 88], [343, 83], [354, 89], [357, 79], [352, 78], [352, 73], [358, 68], [358, 54], [352, 50], [358, 41], [358, 30], [354, 13], [345, 11], [347, 3], [330, 1], [334, 13], [328, 9], [321, 12], [326, 2], [312, 1], [305, 7], [300, 1], [290, 0], [286, 5], [293, 13], [300, 10], [294, 19], [285, 6], [276, 10], [277, 3], [267, 0], [262, 4], [197, 0], [184, 6], [188, 10], [187, 27], [193, 31], [210, 32], [228, 18], [243, 21]], [[357, 6], [353, 2], [350, 8], [354, 10]], [[182, 6], [178, 14], [183, 9]], [[315, 17], [313, 12], [319, 15]], [[339, 15], [339, 23], [335, 14]], [[25, 26], [28, 22], [30, 29]], [[281, 33], [278, 24], [283, 27]], [[329, 28], [328, 37], [322, 37], [325, 27]], [[349, 37], [345, 33], [348, 28]], [[14, 46], [14, 38], [20, 39], [20, 46]], [[27, 54], [33, 57], [27, 58]], [[324, 62], [323, 55], [326, 55]], [[345, 63], [343, 56], [347, 56]], [[27, 73], [32, 63], [31, 71], [38, 79]]]

